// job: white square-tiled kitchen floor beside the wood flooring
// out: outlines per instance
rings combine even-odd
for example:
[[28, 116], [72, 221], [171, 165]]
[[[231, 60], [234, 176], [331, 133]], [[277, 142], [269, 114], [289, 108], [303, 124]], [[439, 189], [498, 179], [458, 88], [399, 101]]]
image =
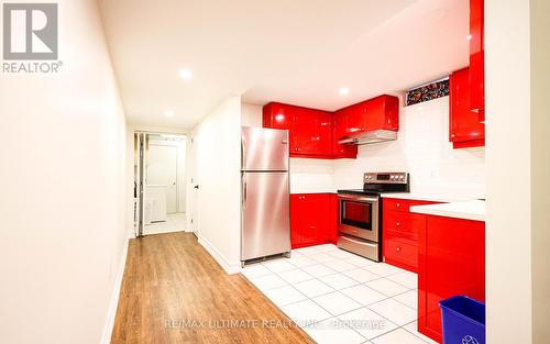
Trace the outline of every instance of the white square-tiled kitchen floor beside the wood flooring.
[[418, 333], [417, 276], [327, 244], [243, 275], [321, 344], [436, 343]]

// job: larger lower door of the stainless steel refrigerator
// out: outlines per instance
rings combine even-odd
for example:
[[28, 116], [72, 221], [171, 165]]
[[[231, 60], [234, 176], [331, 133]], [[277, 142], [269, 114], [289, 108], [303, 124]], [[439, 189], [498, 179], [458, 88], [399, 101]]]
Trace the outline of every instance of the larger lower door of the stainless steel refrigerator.
[[288, 251], [288, 173], [243, 173], [241, 260]]

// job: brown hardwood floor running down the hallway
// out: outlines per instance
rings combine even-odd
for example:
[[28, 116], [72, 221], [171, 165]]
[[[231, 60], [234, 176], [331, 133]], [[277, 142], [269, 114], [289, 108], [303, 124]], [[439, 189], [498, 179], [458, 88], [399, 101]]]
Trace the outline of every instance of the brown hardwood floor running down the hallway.
[[273, 326], [283, 323], [290, 320], [191, 233], [130, 241], [112, 344], [315, 343], [299, 328]]

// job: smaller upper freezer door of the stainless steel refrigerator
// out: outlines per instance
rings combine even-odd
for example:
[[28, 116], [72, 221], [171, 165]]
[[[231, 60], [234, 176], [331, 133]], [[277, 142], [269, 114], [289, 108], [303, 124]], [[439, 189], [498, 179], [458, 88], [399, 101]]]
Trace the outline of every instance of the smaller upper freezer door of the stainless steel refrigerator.
[[288, 131], [243, 126], [241, 170], [288, 170]]

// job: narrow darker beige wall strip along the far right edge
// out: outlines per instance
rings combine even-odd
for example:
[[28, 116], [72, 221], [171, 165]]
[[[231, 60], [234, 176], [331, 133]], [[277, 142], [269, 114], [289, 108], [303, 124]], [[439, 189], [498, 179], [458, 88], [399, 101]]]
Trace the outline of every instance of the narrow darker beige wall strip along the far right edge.
[[550, 1], [530, 3], [534, 343], [550, 339]]

